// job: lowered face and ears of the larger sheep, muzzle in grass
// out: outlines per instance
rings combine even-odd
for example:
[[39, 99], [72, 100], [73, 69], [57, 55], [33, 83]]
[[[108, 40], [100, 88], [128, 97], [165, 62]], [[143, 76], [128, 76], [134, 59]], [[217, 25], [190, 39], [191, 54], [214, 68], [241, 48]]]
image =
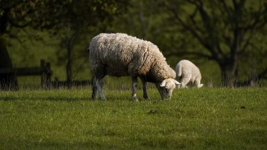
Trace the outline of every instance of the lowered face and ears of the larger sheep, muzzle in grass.
[[173, 78], [167, 78], [161, 83], [155, 83], [156, 88], [158, 88], [159, 93], [161, 94], [161, 99], [170, 99], [172, 97], [172, 90], [175, 89], [176, 85], [180, 85], [178, 81]]

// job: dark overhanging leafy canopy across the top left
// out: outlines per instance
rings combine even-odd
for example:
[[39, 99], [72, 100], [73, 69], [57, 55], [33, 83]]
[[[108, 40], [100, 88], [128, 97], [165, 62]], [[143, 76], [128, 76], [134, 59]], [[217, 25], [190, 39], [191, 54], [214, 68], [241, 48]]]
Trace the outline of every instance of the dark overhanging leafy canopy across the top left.
[[41, 29], [55, 28], [57, 32], [63, 27], [76, 28], [79, 25], [102, 21], [106, 17], [120, 13], [127, 1], [2, 0], [0, 3], [2, 30], [32, 26]]

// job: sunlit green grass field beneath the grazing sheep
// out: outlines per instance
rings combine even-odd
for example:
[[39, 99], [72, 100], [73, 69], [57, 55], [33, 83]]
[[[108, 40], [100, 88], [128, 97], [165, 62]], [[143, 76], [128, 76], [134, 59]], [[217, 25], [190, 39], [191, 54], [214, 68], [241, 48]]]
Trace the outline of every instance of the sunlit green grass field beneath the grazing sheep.
[[0, 92], [0, 149], [267, 149], [267, 88]]

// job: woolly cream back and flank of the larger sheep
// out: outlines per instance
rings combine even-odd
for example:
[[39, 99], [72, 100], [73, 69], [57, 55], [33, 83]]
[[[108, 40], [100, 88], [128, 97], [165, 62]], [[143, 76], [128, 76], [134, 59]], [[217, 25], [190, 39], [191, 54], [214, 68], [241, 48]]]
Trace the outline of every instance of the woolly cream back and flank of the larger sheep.
[[106, 74], [112, 76], [147, 72], [149, 68], [144, 67], [149, 67], [146, 63], [154, 57], [165, 60], [156, 45], [124, 33], [102, 33], [90, 42], [91, 69], [101, 65], [106, 68]]

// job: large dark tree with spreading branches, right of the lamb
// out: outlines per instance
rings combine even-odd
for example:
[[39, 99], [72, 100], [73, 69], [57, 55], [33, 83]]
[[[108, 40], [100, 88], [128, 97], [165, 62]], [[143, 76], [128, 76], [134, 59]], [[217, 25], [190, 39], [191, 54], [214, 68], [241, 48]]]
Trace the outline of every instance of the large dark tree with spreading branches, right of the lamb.
[[[206, 50], [176, 51], [172, 55], [187, 54], [214, 60], [220, 66], [222, 85], [238, 85], [241, 58], [245, 53], [257, 51], [259, 47], [255, 38], [266, 34], [262, 33], [267, 23], [266, 1], [170, 0], [163, 1], [163, 5], [174, 23], [190, 33]], [[266, 74], [265, 65], [246, 83], [266, 78]]]

